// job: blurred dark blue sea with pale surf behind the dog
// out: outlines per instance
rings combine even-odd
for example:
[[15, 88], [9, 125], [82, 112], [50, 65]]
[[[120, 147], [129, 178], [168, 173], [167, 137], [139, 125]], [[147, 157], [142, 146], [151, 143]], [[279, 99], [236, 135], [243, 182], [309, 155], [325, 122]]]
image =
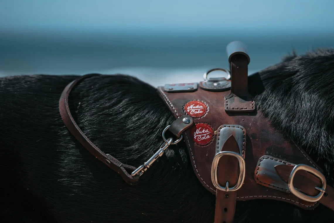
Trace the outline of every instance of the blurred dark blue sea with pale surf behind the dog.
[[233, 40], [248, 46], [252, 74], [279, 63], [293, 50], [303, 54], [334, 47], [334, 32], [2, 30], [0, 76], [122, 73], [153, 86], [200, 81], [208, 69], [228, 68], [225, 47]]

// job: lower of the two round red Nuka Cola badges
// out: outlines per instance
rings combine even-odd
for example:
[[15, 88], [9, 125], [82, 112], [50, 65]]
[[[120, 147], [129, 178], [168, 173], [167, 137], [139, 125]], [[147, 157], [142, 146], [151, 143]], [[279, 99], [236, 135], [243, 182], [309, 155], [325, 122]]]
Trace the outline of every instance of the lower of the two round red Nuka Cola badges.
[[205, 123], [197, 123], [191, 129], [191, 135], [194, 137], [194, 142], [198, 145], [206, 145], [213, 138], [213, 129]]

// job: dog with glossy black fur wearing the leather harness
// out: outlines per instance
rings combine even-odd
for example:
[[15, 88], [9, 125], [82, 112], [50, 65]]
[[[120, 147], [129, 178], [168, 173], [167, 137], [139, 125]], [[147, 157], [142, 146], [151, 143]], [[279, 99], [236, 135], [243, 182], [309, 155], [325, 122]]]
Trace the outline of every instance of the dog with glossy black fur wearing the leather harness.
[[[213, 222], [215, 197], [195, 177], [184, 143], [126, 184], [67, 131], [58, 111], [75, 76], [1, 78], [1, 222]], [[257, 109], [302, 146], [334, 183], [334, 50], [291, 55], [249, 78]], [[174, 118], [136, 78], [95, 76], [69, 97], [99, 148], [134, 166], [161, 145]], [[237, 202], [235, 222], [332, 222], [334, 212], [271, 200]]]

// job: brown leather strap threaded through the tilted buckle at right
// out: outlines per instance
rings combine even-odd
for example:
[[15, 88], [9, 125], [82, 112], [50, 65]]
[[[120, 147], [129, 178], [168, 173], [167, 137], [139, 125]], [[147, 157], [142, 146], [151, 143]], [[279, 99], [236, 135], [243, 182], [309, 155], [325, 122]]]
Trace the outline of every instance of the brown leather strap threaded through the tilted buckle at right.
[[[276, 165], [275, 169], [281, 179], [288, 183], [290, 173], [294, 167], [294, 165], [282, 164]], [[303, 193], [310, 196], [315, 196], [319, 193], [319, 191], [316, 190], [315, 187], [321, 188], [321, 181], [315, 175], [300, 170], [296, 172], [293, 180], [293, 185], [295, 188], [302, 191]], [[331, 186], [326, 185], [326, 192], [319, 200], [319, 202], [334, 211], [334, 189]]]

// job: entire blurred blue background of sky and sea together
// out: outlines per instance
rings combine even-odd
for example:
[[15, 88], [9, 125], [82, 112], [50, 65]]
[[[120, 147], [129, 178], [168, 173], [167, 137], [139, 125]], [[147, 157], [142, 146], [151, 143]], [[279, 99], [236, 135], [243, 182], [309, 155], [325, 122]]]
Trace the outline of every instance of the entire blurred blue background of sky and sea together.
[[251, 74], [293, 50], [333, 47], [333, 9], [333, 0], [0, 0], [0, 76], [200, 81], [208, 69], [228, 68], [233, 40], [248, 46]]

